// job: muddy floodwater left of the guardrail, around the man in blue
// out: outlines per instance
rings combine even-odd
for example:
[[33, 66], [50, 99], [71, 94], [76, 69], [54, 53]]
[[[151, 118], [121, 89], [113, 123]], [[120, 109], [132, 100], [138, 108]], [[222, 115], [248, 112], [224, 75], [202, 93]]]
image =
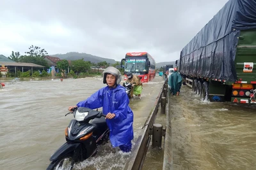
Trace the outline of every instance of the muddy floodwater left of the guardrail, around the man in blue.
[[[131, 99], [134, 111], [134, 140], [150, 111], [163, 78], [143, 83], [141, 99]], [[73, 118], [65, 117], [68, 106], [76, 105], [104, 87], [102, 77], [60, 79], [45, 81], [5, 82], [0, 89], [0, 169], [42, 170], [49, 165], [49, 158], [65, 143], [65, 128]], [[130, 153], [112, 148], [110, 143], [99, 146], [97, 155], [76, 164], [75, 169], [123, 169]]]

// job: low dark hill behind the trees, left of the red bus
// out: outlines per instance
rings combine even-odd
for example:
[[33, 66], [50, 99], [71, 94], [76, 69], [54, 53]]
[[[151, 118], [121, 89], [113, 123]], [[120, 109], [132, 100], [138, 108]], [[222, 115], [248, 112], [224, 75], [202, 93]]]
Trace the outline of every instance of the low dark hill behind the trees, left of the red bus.
[[65, 60], [79, 60], [79, 59], [84, 59], [85, 61], [90, 61], [94, 63], [98, 62], [108, 62], [109, 64], [115, 64], [116, 61], [114, 59], [106, 59], [102, 57], [98, 57], [95, 55], [91, 55], [88, 53], [78, 53], [78, 52], [68, 52], [66, 54], [54, 54], [54, 55], [49, 55], [51, 57], [59, 57], [60, 59], [65, 59]]

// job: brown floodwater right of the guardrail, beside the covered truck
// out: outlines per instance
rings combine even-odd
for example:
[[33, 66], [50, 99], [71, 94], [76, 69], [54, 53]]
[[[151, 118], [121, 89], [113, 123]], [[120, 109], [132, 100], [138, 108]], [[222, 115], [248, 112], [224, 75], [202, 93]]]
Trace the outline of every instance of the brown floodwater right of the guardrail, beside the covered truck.
[[173, 169], [256, 169], [256, 107], [170, 97]]

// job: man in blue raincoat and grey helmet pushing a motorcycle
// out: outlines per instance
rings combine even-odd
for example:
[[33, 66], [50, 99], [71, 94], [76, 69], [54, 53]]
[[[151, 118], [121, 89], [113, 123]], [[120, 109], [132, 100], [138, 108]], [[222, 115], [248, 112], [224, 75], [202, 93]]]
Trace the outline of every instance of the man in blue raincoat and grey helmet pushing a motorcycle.
[[110, 130], [109, 139], [112, 146], [119, 146], [123, 152], [130, 152], [133, 139], [133, 112], [128, 106], [129, 98], [125, 88], [120, 85], [122, 75], [115, 67], [106, 68], [102, 74], [103, 83], [108, 86], [98, 90], [88, 99], [77, 103], [77, 106], [70, 106], [68, 110], [71, 111], [74, 107], [90, 109], [102, 107]]

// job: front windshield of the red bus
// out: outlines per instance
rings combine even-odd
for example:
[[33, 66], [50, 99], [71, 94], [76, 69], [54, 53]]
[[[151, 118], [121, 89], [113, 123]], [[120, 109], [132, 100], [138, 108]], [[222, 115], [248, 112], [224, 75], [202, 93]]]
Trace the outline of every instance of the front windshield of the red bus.
[[125, 72], [141, 72], [148, 71], [146, 67], [146, 58], [145, 57], [125, 57]]

